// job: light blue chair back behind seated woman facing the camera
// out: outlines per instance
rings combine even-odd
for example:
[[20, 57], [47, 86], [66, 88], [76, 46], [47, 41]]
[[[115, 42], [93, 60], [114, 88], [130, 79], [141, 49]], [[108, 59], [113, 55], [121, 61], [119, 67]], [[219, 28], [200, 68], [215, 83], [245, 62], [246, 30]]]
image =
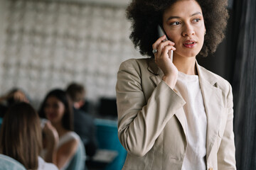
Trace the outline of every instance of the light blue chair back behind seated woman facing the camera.
[[66, 170], [86, 170], [85, 168], [85, 147], [82, 140], [79, 140], [78, 150]]

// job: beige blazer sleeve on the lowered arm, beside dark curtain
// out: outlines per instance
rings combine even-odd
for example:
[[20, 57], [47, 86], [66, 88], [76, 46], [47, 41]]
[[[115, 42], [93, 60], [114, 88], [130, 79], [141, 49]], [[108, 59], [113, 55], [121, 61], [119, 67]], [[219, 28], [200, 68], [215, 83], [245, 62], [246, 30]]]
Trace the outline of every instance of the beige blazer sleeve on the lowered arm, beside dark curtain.
[[228, 118], [225, 131], [218, 149], [218, 169], [236, 169], [235, 167], [235, 142], [233, 132], [233, 94], [232, 87], [229, 85], [227, 106]]

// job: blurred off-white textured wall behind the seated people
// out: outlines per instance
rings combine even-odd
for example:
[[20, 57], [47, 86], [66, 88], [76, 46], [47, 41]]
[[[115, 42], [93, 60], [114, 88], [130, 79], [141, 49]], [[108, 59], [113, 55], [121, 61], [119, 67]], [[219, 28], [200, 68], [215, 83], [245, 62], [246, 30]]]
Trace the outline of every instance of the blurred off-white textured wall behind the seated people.
[[92, 101], [114, 97], [119, 64], [140, 57], [129, 40], [125, 7], [5, 1], [1, 94], [17, 86], [41, 101], [50, 89], [78, 81]]

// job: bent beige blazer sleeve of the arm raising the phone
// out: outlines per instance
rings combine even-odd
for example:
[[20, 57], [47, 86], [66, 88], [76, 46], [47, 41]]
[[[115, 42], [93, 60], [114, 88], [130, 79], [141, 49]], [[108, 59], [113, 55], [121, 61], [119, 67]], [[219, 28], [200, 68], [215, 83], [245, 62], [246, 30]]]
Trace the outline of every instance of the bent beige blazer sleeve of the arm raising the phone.
[[[129, 60], [128, 60], [129, 61]], [[118, 137], [123, 147], [139, 157], [149, 152], [166, 123], [185, 101], [161, 81], [146, 101], [142, 72], [136, 61], [123, 62], [117, 73]]]

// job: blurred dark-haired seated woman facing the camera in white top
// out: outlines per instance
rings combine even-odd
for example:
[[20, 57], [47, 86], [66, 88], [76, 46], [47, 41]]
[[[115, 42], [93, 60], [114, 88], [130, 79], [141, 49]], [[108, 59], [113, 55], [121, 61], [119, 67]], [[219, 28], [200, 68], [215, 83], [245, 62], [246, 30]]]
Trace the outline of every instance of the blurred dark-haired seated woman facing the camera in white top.
[[[41, 105], [39, 114], [41, 118], [50, 121], [44, 128], [46, 139], [43, 158], [46, 162], [53, 162], [59, 169], [72, 169], [74, 166], [71, 167], [71, 162], [75, 162], [73, 159], [78, 153], [80, 137], [73, 132], [73, 112], [65, 91], [50, 91]], [[84, 168], [83, 160], [78, 164], [75, 167]]]

